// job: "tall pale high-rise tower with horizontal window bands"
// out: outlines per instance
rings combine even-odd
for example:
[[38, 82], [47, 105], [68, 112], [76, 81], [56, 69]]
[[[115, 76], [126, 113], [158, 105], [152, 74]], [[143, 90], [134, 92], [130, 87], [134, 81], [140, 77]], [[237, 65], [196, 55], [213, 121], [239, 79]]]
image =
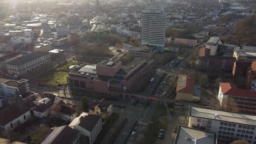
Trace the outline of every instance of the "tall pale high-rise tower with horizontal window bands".
[[158, 52], [164, 52], [166, 14], [162, 5], [148, 4], [142, 11], [141, 44], [158, 47]]

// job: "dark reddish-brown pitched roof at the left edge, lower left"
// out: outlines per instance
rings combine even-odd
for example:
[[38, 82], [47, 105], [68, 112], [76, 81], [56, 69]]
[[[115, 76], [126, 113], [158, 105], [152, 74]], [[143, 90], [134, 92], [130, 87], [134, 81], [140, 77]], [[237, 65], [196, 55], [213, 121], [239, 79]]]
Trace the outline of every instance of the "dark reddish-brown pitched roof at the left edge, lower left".
[[0, 125], [5, 125], [13, 121], [14, 119], [24, 115], [30, 109], [25, 105], [10, 105], [0, 111]]

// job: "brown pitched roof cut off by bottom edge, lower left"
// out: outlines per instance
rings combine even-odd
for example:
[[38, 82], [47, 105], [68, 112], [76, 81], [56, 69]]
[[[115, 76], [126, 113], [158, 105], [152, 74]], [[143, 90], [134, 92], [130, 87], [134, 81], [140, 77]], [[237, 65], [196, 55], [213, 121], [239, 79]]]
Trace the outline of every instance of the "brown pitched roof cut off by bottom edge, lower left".
[[41, 144], [69, 144], [73, 143], [77, 136], [77, 131], [68, 127], [68, 125], [63, 125], [55, 128]]

